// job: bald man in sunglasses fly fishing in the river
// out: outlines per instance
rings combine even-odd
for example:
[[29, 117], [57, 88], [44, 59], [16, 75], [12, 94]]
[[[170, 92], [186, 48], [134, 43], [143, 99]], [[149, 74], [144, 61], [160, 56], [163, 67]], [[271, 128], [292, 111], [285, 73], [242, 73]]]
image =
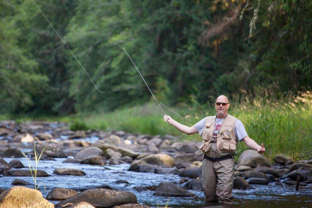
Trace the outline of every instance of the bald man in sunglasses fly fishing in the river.
[[192, 127], [185, 126], [165, 115], [165, 122], [188, 135], [199, 133], [202, 136], [200, 150], [204, 152], [202, 160], [202, 186], [206, 200], [232, 204], [234, 179], [234, 152], [238, 141], [244, 141], [259, 154], [266, 150], [263, 143], [259, 146], [248, 137], [240, 120], [227, 113], [229, 102], [226, 96], [220, 95], [215, 103], [216, 116], [208, 116]]

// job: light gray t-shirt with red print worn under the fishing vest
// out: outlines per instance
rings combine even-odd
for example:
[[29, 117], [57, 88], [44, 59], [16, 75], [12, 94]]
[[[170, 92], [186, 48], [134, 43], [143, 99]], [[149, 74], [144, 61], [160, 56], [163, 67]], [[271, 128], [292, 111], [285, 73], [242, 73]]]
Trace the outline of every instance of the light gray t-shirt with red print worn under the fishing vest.
[[[195, 128], [197, 129], [199, 135], [201, 135], [201, 136], [202, 136], [202, 130], [204, 129], [204, 126], [205, 126], [206, 118], [207, 117], [203, 118], [202, 120], [200, 120], [198, 123], [195, 124]], [[218, 131], [221, 128], [223, 121], [224, 121], [224, 119], [216, 118], [215, 129], [213, 129], [212, 137], [217, 135]], [[243, 123], [241, 123], [241, 121], [238, 119], [235, 123], [234, 133], [235, 133], [235, 136], [238, 140], [241, 140], [242, 138], [248, 136]]]

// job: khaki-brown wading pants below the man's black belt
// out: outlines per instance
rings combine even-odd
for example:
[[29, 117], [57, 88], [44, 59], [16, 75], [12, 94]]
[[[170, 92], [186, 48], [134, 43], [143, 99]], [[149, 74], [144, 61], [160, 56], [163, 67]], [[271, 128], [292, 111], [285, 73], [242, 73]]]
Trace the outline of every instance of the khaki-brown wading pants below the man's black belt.
[[202, 160], [202, 187], [206, 200], [218, 201], [218, 197], [224, 204], [233, 203], [234, 159], [218, 162]]

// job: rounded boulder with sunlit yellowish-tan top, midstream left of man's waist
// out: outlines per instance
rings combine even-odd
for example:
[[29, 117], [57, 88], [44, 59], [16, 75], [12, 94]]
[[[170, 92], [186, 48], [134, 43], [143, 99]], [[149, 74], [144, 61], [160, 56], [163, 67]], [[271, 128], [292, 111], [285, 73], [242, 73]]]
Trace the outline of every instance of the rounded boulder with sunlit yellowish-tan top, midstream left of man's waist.
[[167, 154], [149, 155], [141, 159], [150, 165], [157, 165], [160, 167], [174, 167], [174, 160]]

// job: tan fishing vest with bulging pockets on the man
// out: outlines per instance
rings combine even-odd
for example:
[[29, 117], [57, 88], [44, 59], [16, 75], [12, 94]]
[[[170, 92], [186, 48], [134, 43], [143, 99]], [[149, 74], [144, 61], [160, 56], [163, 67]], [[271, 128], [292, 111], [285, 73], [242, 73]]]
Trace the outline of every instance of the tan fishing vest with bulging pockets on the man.
[[[234, 133], [236, 120], [237, 119], [230, 114], [227, 114], [227, 117], [224, 119], [220, 131], [217, 135], [217, 150], [219, 152], [236, 151], [236, 144], [238, 142]], [[208, 116], [205, 121], [204, 129], [202, 130], [202, 145], [199, 148], [202, 152], [208, 152], [211, 148], [215, 121], [216, 116]]]

